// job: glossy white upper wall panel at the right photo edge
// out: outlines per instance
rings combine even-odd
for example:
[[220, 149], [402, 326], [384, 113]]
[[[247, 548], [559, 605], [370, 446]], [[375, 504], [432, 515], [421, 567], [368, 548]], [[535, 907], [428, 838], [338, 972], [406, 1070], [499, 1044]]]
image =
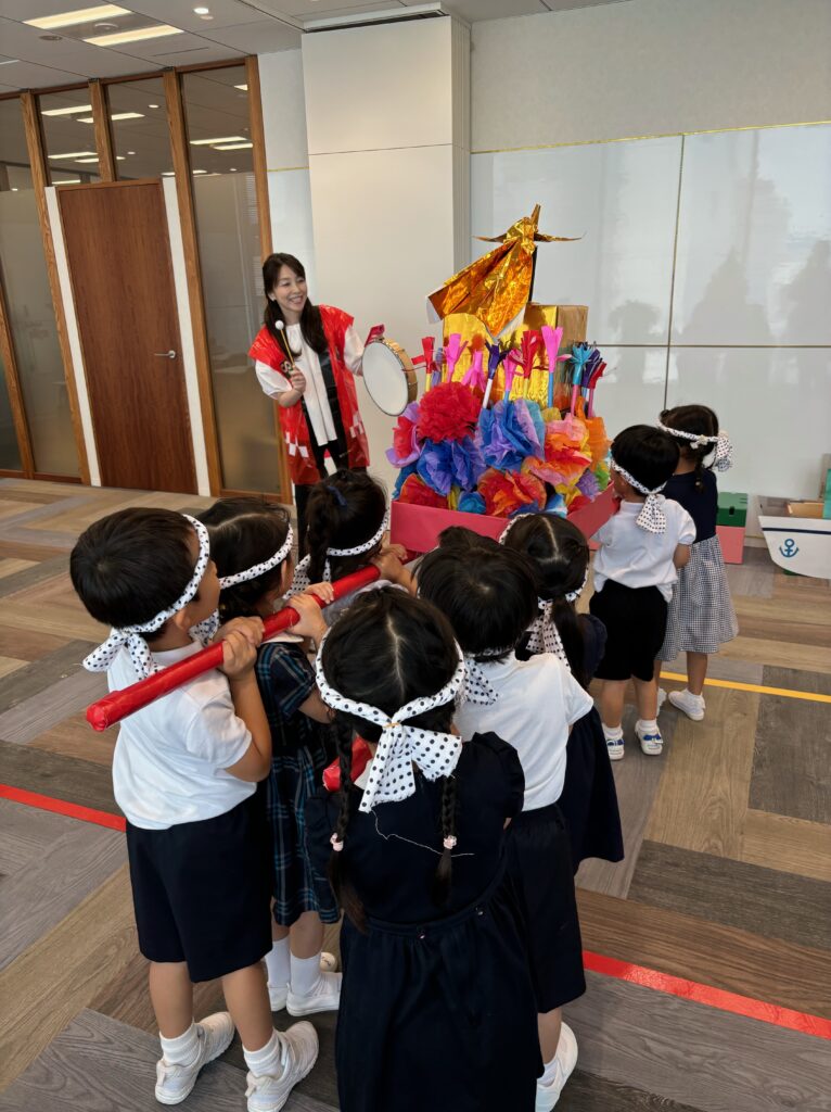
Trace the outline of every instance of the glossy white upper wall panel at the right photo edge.
[[672, 339], [831, 344], [831, 127], [690, 136]]

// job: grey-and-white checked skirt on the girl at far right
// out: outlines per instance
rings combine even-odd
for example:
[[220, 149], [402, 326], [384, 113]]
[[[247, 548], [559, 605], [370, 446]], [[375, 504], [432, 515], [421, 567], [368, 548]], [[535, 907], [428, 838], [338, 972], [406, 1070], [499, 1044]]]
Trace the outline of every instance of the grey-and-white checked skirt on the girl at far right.
[[739, 632], [718, 537], [692, 546], [678, 575], [659, 661], [679, 653], [718, 653]]

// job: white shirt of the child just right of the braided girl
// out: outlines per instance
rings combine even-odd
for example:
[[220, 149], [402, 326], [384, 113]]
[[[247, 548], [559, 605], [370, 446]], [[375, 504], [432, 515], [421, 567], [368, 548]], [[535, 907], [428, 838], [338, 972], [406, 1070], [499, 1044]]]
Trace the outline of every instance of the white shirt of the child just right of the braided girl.
[[525, 774], [524, 811], [557, 803], [565, 778], [569, 726], [592, 708], [591, 696], [552, 653], [480, 664], [498, 694], [492, 706], [464, 703], [455, 724], [465, 742], [493, 731], [519, 754]]

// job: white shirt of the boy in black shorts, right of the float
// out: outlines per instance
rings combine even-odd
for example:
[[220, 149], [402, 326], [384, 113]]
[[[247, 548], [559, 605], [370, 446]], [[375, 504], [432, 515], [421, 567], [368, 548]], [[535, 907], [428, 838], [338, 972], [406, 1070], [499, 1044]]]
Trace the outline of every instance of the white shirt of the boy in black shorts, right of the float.
[[600, 545], [594, 554], [594, 589], [602, 590], [607, 579], [624, 587], [658, 587], [669, 602], [678, 580], [672, 563], [678, 545], [695, 539], [695, 523], [678, 502], [665, 498], [667, 528], [650, 533], [638, 525], [642, 502], [622, 502], [620, 510], [594, 534]]

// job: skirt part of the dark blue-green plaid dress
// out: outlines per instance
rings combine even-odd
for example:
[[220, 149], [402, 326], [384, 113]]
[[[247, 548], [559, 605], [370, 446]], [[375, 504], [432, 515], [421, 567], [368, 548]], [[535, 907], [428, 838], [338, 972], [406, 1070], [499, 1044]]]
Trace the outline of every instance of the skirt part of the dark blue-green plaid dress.
[[307, 911], [337, 923], [334, 893], [318, 882], [306, 850], [306, 802], [320, 790], [328, 758], [323, 747], [276, 752], [266, 782], [266, 804], [274, 857], [274, 922], [291, 926]]

